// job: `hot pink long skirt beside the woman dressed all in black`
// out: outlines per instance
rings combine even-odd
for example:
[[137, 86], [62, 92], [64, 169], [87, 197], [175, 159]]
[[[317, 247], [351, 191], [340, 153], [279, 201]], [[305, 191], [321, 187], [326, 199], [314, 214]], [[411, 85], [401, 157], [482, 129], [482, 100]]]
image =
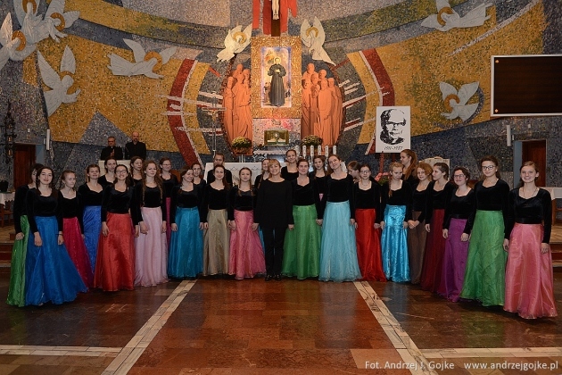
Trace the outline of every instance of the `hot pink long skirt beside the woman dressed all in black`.
[[230, 231], [228, 273], [236, 279], [253, 278], [265, 273], [265, 258], [260, 234], [252, 230], [253, 212], [235, 210], [236, 230]]

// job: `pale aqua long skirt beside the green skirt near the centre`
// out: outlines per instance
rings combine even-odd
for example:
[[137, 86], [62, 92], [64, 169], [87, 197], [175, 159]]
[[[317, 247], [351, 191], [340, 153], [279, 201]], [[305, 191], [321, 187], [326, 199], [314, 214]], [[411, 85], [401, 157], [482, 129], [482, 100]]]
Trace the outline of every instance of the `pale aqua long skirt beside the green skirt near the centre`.
[[328, 202], [322, 223], [320, 276], [322, 281], [353, 281], [361, 279], [355, 228], [350, 225], [350, 204]]

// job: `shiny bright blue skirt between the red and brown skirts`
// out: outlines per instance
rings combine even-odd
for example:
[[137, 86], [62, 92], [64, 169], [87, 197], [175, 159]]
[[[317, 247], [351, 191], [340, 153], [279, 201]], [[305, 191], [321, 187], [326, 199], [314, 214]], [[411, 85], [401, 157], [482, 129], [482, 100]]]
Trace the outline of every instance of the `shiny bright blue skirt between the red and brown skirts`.
[[405, 205], [387, 205], [384, 209], [384, 230], [381, 237], [383, 270], [386, 279], [409, 281], [408, 240], [404, 228]]

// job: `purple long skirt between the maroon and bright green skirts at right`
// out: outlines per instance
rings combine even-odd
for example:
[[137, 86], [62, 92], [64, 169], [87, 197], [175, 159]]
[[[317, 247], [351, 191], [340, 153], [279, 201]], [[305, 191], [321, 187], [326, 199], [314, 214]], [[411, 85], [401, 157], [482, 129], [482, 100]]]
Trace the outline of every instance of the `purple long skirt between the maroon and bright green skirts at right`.
[[467, 268], [468, 241], [460, 240], [466, 224], [466, 219], [450, 219], [449, 235], [445, 241], [441, 284], [437, 293], [452, 302], [459, 301]]

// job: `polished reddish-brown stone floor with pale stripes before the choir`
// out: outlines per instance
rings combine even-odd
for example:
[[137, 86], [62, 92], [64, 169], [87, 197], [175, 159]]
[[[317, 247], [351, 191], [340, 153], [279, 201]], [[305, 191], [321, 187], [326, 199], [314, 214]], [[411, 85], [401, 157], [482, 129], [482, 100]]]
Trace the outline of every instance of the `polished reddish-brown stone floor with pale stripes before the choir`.
[[[8, 278], [0, 272], [2, 299]], [[562, 272], [555, 287], [562, 296]], [[562, 373], [562, 321], [452, 304], [409, 284], [296, 279], [170, 281], [59, 306], [0, 304], [0, 374], [373, 370]]]

